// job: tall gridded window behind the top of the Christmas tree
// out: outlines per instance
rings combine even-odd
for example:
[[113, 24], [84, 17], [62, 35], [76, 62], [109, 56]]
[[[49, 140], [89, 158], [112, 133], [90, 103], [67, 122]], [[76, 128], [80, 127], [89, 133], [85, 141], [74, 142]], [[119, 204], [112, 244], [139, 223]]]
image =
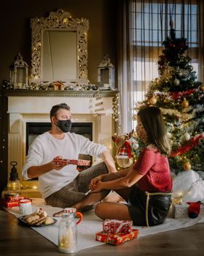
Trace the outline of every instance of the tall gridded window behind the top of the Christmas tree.
[[[157, 61], [162, 54], [162, 42], [170, 31], [170, 17], [176, 37], [185, 37], [189, 45], [188, 53], [192, 66], [198, 74], [197, 4], [160, 4], [135, 1], [133, 4], [133, 79], [143, 100], [149, 82], [158, 77]], [[168, 31], [167, 31], [168, 29]], [[145, 81], [145, 85], [143, 83]], [[139, 90], [138, 90], [139, 89]], [[139, 99], [141, 98], [141, 99]]]

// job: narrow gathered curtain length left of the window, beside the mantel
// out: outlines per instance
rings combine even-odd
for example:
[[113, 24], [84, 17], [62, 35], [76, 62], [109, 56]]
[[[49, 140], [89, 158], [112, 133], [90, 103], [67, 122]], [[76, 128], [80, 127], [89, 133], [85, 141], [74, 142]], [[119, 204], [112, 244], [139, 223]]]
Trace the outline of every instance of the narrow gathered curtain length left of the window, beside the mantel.
[[117, 27], [117, 85], [119, 89], [119, 124], [117, 133], [128, 132], [130, 127], [131, 108], [132, 108], [132, 91], [133, 91], [133, 45], [131, 44], [130, 35], [130, 1], [119, 0], [118, 2], [118, 27]]

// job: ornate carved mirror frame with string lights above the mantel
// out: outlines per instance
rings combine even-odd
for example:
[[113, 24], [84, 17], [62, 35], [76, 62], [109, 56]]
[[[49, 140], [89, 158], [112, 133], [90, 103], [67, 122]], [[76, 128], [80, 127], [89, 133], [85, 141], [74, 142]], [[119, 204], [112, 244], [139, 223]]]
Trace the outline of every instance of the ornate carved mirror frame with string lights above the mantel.
[[[53, 65], [55, 61], [52, 63], [52, 58], [49, 56], [49, 58], [45, 58], [44, 54], [45, 52], [51, 52], [51, 46], [50, 46], [50, 36], [44, 37], [44, 34], [47, 33], [47, 31], [51, 31], [52, 34], [55, 33], [55, 31], [63, 31], [63, 32], [75, 32], [76, 36], [72, 37], [72, 45], [76, 42], [76, 45], [74, 46], [74, 51], [70, 49], [70, 44], [68, 43], [67, 48], [64, 49], [69, 50], [69, 53], [74, 54], [76, 53], [76, 59], [71, 63], [72, 65], [76, 65], [76, 70], [74, 71], [74, 77], [72, 75], [71, 78], [59, 78], [57, 79], [61, 80], [66, 83], [75, 83], [79, 85], [87, 85], [88, 79], [87, 79], [87, 30], [89, 29], [89, 21], [85, 18], [72, 18], [71, 15], [68, 12], [64, 12], [63, 10], [58, 10], [57, 12], [50, 12], [50, 15], [47, 18], [32, 18], [31, 19], [31, 36], [32, 36], [32, 42], [31, 42], [31, 82], [35, 83], [42, 83], [44, 81], [53, 82], [56, 81], [55, 77], [52, 77], [50, 79], [44, 78], [44, 70], [43, 67], [47, 68], [47, 64]], [[48, 32], [49, 33], [49, 32]], [[58, 35], [58, 34], [56, 34]], [[46, 38], [46, 40], [45, 40]], [[64, 36], [63, 36], [64, 38]], [[75, 39], [74, 39], [75, 38]], [[57, 39], [55, 39], [55, 44], [60, 40], [60, 37], [57, 36]], [[45, 41], [49, 42], [49, 47], [45, 46]], [[60, 45], [55, 45], [55, 49], [60, 49]], [[74, 52], [74, 53], [73, 53]], [[61, 50], [61, 53], [63, 53], [63, 50]], [[66, 53], [66, 52], [64, 52]], [[69, 58], [67, 58], [67, 55], [64, 54], [65, 60], [67, 61]], [[55, 54], [56, 57], [56, 54]], [[58, 58], [58, 56], [57, 56]], [[49, 61], [45, 61], [45, 59], [48, 59]], [[44, 63], [43, 63], [44, 61]], [[58, 63], [63, 62], [63, 59], [58, 58]], [[70, 60], [69, 60], [70, 61]], [[63, 62], [66, 63], [66, 62]], [[71, 65], [70, 64], [70, 65]], [[71, 68], [71, 66], [70, 66]], [[73, 67], [72, 67], [73, 68]], [[60, 69], [60, 68], [59, 68]], [[56, 71], [58, 69], [55, 68]], [[68, 72], [67, 72], [68, 73]], [[74, 85], [74, 84], [73, 84]]]

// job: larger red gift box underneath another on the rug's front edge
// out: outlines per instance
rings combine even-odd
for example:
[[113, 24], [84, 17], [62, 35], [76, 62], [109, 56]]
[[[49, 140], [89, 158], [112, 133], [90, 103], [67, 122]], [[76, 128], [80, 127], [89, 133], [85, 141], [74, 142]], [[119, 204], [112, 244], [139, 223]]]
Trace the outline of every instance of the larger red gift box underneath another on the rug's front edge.
[[127, 241], [133, 240], [138, 236], [138, 230], [132, 230], [129, 234], [106, 234], [103, 231], [95, 234], [95, 241], [100, 241], [106, 244], [119, 245]]

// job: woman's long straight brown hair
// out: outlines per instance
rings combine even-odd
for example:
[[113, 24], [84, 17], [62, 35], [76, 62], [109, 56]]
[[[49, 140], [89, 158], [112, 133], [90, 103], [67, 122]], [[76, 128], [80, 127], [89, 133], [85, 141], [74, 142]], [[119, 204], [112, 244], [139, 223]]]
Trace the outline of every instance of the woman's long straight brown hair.
[[153, 144], [161, 154], [170, 154], [170, 143], [168, 141], [165, 122], [160, 108], [147, 107], [138, 111], [138, 116], [147, 133], [147, 143]]

